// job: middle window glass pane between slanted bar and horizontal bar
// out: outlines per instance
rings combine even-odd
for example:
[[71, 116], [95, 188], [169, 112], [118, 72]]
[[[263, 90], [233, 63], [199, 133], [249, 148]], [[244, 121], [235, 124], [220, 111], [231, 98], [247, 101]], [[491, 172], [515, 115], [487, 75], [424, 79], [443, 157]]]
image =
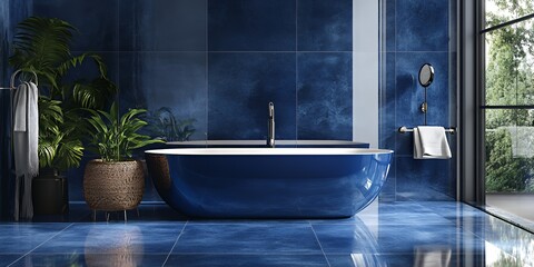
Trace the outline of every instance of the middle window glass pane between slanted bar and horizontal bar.
[[485, 33], [486, 105], [534, 105], [534, 20]]

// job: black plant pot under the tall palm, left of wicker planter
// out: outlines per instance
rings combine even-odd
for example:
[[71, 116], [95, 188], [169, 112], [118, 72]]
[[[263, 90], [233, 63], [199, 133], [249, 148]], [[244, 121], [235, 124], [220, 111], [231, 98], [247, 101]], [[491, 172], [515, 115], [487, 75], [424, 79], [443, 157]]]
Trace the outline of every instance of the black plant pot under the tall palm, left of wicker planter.
[[69, 211], [67, 178], [41, 169], [31, 182], [34, 215], [65, 215]]

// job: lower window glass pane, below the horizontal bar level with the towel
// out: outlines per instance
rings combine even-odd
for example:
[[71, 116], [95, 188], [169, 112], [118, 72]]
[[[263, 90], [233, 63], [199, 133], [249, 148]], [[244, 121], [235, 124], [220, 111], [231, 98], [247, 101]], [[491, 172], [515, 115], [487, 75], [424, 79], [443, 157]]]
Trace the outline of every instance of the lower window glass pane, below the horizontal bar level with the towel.
[[485, 110], [487, 192], [534, 192], [534, 110]]

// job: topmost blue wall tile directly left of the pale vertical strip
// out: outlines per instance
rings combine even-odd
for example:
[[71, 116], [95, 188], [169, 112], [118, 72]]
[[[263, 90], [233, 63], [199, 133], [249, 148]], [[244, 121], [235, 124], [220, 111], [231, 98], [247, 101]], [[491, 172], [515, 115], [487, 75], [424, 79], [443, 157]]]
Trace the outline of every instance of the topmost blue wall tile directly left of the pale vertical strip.
[[352, 0], [297, 0], [299, 51], [352, 51]]

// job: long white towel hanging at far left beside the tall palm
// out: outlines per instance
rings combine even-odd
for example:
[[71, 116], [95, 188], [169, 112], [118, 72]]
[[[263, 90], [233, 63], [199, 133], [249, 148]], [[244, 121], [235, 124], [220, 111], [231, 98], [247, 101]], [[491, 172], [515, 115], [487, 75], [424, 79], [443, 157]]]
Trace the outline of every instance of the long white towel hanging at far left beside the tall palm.
[[[32, 218], [31, 180], [39, 174], [38, 89], [33, 82], [17, 87], [13, 99], [13, 154], [16, 181], [14, 219]], [[22, 185], [22, 188], [20, 187]], [[22, 199], [20, 192], [22, 189]], [[19, 211], [20, 208], [20, 211]]]

